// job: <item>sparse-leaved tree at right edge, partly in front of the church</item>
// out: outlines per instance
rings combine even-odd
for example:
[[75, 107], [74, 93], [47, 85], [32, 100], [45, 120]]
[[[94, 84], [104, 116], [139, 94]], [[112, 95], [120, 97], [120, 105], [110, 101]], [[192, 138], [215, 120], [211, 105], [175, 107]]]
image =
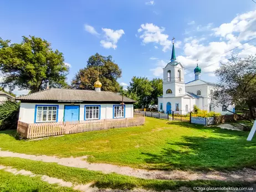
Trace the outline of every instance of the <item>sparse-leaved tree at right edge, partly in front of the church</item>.
[[[247, 104], [250, 116], [256, 107], [256, 58], [240, 59], [232, 57], [215, 72], [218, 77], [217, 89], [212, 98], [222, 106]], [[218, 105], [218, 104], [217, 104]]]

